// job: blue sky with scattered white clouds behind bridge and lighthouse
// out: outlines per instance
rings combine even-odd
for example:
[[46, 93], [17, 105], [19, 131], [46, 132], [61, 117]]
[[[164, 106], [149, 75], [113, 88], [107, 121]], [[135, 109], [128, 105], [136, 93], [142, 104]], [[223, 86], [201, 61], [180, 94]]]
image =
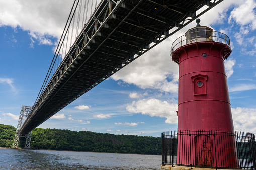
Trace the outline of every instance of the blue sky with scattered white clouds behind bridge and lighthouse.
[[[1, 1], [0, 123], [17, 127], [22, 105], [32, 106], [72, 2]], [[256, 1], [224, 0], [200, 17], [225, 33], [232, 54], [225, 61], [235, 130], [256, 133]], [[90, 13], [90, 12], [89, 12]], [[41, 128], [160, 136], [177, 129], [178, 64], [172, 42], [189, 24], [147, 54], [84, 94]]]

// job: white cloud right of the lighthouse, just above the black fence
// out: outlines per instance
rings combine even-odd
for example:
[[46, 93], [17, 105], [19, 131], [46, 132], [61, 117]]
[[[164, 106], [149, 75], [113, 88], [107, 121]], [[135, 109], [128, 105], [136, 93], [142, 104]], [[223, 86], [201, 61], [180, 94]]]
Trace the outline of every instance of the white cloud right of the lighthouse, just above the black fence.
[[231, 108], [234, 129], [256, 133], [256, 108]]

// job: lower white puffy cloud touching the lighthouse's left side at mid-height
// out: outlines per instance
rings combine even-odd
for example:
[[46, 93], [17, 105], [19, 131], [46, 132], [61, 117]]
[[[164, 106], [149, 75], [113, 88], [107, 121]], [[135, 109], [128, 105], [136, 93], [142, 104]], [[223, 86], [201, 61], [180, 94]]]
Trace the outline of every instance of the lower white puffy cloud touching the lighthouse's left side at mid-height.
[[168, 103], [167, 101], [149, 98], [133, 101], [132, 104], [127, 105], [126, 110], [130, 113], [141, 113], [151, 117], [165, 117], [167, 118], [165, 123], [177, 124], [177, 103]]

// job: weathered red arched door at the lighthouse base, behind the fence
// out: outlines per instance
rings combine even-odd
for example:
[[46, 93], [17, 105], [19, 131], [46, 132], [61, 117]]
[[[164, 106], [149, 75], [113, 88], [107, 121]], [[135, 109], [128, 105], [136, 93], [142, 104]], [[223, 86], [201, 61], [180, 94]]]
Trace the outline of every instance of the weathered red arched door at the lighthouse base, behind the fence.
[[198, 166], [212, 166], [210, 136], [198, 135], [195, 137], [195, 159]]

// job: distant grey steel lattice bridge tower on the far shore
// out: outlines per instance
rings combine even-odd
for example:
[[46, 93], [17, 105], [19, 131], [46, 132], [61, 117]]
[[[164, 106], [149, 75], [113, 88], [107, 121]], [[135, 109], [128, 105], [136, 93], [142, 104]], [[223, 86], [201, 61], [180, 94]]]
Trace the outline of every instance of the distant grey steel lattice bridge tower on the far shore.
[[23, 117], [28, 117], [31, 109], [32, 109], [32, 107], [30, 107], [30, 106], [21, 106], [21, 112], [20, 112], [20, 116], [19, 116], [19, 120], [18, 120], [17, 129], [16, 129], [16, 132], [15, 132], [14, 143], [13, 143], [12, 148], [18, 148], [19, 139], [21, 137], [26, 138], [25, 148], [26, 149], [30, 148], [30, 141], [31, 141], [32, 131], [30, 133], [26, 134], [26, 135], [22, 135], [22, 134], [20, 134], [20, 129], [21, 129]]

